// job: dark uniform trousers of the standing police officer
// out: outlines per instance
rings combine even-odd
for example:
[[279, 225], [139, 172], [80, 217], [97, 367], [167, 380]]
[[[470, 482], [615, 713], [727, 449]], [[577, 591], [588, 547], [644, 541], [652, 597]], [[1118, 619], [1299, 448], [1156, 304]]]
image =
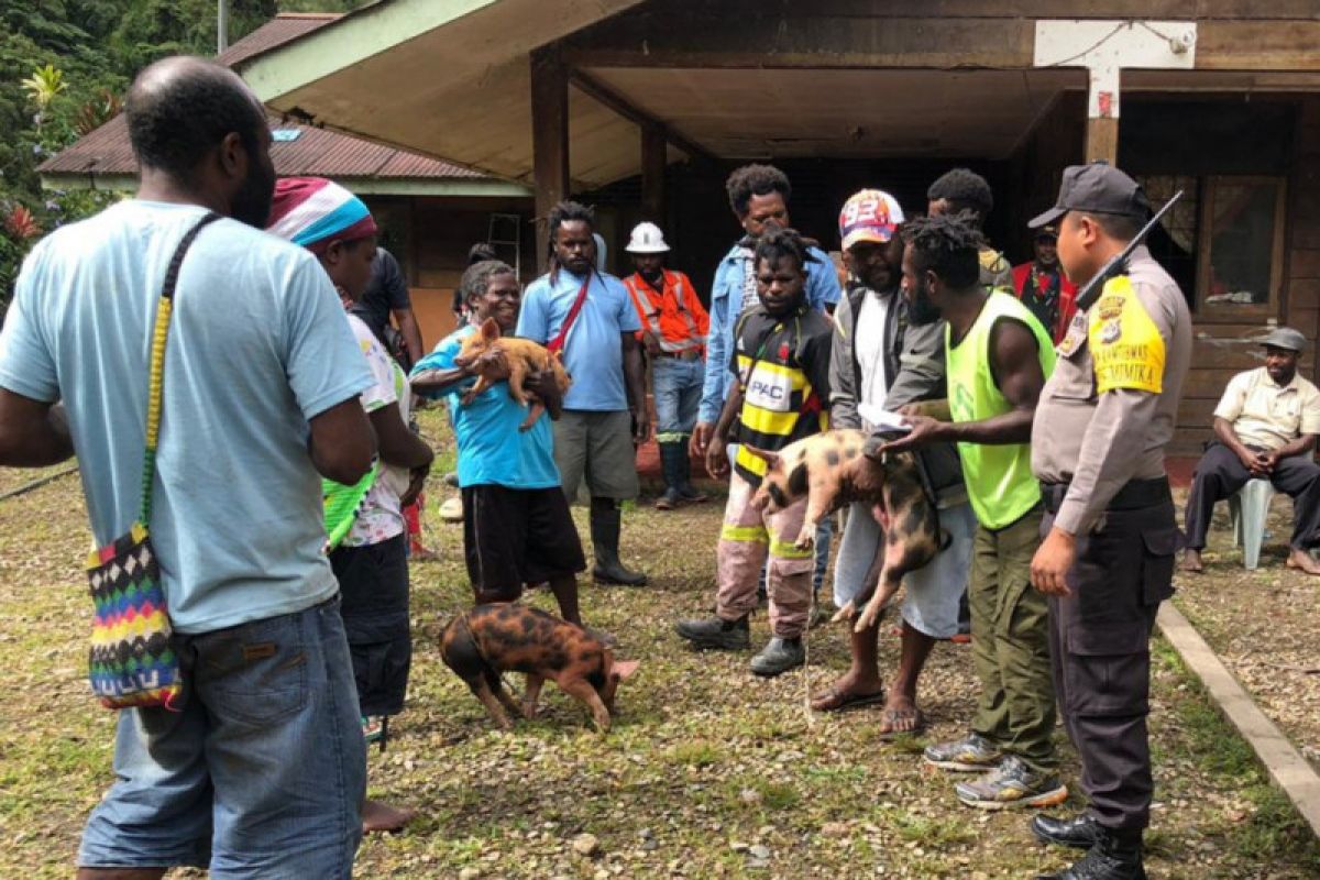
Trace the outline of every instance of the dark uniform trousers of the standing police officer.
[[[1067, 486], [1044, 488], [1048, 534]], [[1098, 528], [1077, 536], [1071, 595], [1049, 598], [1055, 691], [1082, 790], [1100, 823], [1121, 833], [1150, 823], [1150, 635], [1173, 594], [1177, 537], [1168, 480], [1133, 480]]]

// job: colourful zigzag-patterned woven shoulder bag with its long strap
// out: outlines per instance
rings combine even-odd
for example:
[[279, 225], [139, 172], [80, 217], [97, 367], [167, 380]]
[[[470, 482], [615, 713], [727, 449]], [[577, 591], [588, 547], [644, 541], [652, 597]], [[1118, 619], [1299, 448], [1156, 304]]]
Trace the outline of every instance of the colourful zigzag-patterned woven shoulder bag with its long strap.
[[219, 215], [207, 212], [178, 243], [165, 273], [156, 323], [152, 329], [152, 364], [147, 397], [147, 453], [143, 462], [143, 507], [127, 534], [115, 538], [87, 559], [91, 600], [96, 606], [91, 627], [88, 678], [106, 708], [161, 706], [181, 710], [183, 678], [174, 652], [173, 628], [165, 607], [165, 586], [152, 549], [152, 483], [156, 480], [156, 443], [160, 439], [161, 384], [165, 340], [174, 309], [174, 286], [193, 239]]

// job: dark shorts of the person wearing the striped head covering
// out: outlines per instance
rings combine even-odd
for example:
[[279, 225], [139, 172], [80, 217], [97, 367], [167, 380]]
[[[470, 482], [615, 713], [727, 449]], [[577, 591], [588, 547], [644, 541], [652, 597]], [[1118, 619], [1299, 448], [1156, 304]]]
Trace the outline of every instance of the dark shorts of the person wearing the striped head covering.
[[412, 666], [408, 623], [408, 549], [403, 534], [330, 553], [363, 715], [397, 715]]

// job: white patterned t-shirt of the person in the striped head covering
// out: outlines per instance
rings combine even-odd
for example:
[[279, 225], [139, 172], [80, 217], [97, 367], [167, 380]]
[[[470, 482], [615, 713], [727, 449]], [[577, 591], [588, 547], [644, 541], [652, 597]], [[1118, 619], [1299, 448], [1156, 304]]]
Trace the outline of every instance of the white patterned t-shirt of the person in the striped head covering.
[[[399, 404], [399, 416], [407, 425], [408, 405], [412, 402], [412, 394], [407, 393], [408, 377], [376, 339], [376, 334], [371, 332], [367, 322], [354, 314], [347, 315], [347, 318], [374, 380], [371, 388], [362, 392], [362, 408], [374, 413], [381, 406]], [[381, 464], [380, 467], [381, 471], [376, 476], [376, 482], [372, 483], [367, 497], [362, 501], [358, 519], [352, 521], [352, 528], [348, 529], [348, 534], [343, 540], [345, 546], [360, 548], [380, 544], [403, 534], [404, 529], [408, 528], [399, 507], [399, 496], [408, 489], [408, 471], [392, 464]]]

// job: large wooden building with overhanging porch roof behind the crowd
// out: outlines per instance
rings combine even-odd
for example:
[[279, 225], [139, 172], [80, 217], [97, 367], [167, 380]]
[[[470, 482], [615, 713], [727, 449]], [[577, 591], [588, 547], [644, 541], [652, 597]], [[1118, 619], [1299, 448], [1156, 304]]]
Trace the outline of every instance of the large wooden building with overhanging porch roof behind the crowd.
[[236, 69], [277, 112], [533, 187], [537, 216], [583, 194], [615, 257], [657, 219], [698, 284], [742, 161], [789, 173], [826, 247], [850, 191], [916, 211], [969, 165], [1015, 261], [1065, 165], [1117, 161], [1187, 193], [1152, 247], [1196, 321], [1193, 453], [1269, 323], [1320, 330], [1316, 46], [1315, 0], [383, 0]]

